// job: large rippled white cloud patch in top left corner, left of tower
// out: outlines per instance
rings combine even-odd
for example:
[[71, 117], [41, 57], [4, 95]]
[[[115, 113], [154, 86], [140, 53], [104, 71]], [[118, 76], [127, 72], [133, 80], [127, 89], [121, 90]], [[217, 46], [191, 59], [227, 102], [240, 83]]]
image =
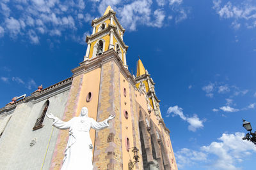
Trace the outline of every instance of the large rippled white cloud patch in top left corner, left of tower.
[[82, 13], [85, 8], [83, 0], [15, 1], [15, 5], [8, 2], [0, 3], [1, 8], [4, 6], [7, 6], [11, 13], [15, 11], [20, 15], [4, 15], [0, 37], [3, 36], [3, 31], [10, 33], [12, 38], [16, 38], [18, 34], [28, 35], [26, 37], [33, 44], [38, 44], [40, 34], [60, 36], [66, 29], [76, 30], [76, 20], [73, 16]]

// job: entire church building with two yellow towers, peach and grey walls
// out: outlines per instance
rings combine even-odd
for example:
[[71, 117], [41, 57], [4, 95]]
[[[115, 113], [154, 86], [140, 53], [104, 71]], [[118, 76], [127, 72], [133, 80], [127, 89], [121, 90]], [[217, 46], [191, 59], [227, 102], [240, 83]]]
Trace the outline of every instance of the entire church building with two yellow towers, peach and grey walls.
[[93, 170], [177, 169], [155, 83], [140, 59], [136, 76], [129, 72], [129, 46], [115, 11], [108, 6], [92, 27], [71, 77], [0, 108], [0, 169], [61, 169], [68, 130], [52, 127], [45, 114], [67, 122], [84, 106], [97, 122], [115, 115], [108, 128], [90, 131]]

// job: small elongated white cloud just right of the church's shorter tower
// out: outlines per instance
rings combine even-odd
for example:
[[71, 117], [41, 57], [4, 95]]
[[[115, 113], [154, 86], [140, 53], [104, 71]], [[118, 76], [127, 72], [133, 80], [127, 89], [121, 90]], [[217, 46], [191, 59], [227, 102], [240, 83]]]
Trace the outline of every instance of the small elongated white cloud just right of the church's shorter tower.
[[173, 113], [172, 114], [173, 117], [175, 115], [179, 115], [179, 117], [182, 118], [182, 120], [185, 120], [186, 122], [188, 122], [189, 123], [189, 126], [188, 126], [189, 131], [195, 132], [197, 129], [204, 127], [204, 125], [203, 125], [204, 121], [200, 120], [196, 114], [194, 114], [193, 117], [186, 117], [183, 114], [183, 109], [179, 108], [179, 106], [177, 106], [177, 105], [173, 106], [173, 107], [171, 106], [168, 108], [166, 117], [170, 117], [171, 113]]

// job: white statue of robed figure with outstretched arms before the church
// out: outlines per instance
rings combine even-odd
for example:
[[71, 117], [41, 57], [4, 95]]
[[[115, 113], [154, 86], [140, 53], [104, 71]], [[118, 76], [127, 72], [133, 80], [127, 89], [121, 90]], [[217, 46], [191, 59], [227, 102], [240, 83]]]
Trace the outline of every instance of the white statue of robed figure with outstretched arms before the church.
[[48, 118], [53, 119], [52, 125], [58, 129], [69, 129], [69, 138], [63, 159], [61, 170], [92, 170], [92, 140], [90, 138], [91, 127], [101, 130], [109, 126], [108, 121], [115, 118], [111, 115], [103, 122], [96, 122], [88, 117], [88, 109], [83, 107], [80, 117], [74, 117], [68, 122], [63, 122], [51, 113]]

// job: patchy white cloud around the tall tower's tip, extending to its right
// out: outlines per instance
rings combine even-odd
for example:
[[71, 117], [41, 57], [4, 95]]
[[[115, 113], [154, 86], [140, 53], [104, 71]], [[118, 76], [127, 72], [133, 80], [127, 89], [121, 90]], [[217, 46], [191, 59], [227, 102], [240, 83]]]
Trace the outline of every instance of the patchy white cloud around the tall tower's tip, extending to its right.
[[[135, 31], [138, 25], [147, 25], [150, 27], [163, 26], [164, 19], [166, 18], [164, 13], [166, 13], [166, 11], [162, 8], [153, 10], [152, 0], [136, 0], [131, 2], [129, 1], [127, 4], [122, 3], [124, 2], [120, 0], [103, 0], [99, 4], [98, 11], [102, 15], [107, 6], [110, 5], [111, 8], [118, 13], [117, 17], [120, 18], [120, 23], [129, 31]], [[166, 1], [157, 0], [156, 3], [157, 6], [164, 6]], [[181, 3], [182, 1], [175, 0], [170, 4], [170, 8], [168, 9], [176, 15], [179, 14], [179, 17], [177, 17], [178, 22], [187, 18], [185, 17], [186, 10], [180, 7]], [[173, 5], [175, 5], [176, 8], [172, 8]]]

